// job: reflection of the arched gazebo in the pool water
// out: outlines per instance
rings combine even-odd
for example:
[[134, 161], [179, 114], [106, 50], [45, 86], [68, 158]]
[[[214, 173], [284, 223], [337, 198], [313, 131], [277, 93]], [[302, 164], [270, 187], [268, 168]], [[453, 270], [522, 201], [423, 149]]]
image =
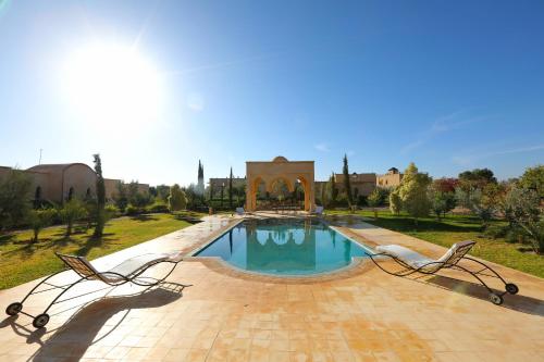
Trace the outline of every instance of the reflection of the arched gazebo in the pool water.
[[[249, 271], [290, 271], [316, 269], [316, 229], [305, 225], [304, 235], [277, 227], [247, 225], [246, 267]], [[262, 233], [264, 230], [264, 233]], [[267, 234], [264, 240], [259, 237]]]

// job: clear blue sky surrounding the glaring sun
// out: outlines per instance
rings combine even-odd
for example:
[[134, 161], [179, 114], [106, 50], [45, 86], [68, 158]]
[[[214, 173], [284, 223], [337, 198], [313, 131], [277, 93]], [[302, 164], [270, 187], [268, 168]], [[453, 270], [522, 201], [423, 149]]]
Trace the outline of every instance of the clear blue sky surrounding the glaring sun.
[[[0, 165], [100, 152], [107, 177], [188, 184], [199, 159], [208, 178], [282, 154], [324, 179], [347, 153], [356, 172], [516, 176], [544, 162], [543, 16], [542, 1], [0, 0]], [[74, 100], [88, 87], [66, 91], [66, 64], [89, 42], [151, 64], [150, 112]]]

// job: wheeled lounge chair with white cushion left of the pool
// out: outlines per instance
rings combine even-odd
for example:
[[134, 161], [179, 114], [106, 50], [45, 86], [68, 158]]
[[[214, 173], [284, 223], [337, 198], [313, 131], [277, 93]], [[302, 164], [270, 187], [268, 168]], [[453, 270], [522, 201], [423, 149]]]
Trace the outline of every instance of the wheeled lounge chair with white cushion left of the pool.
[[[161, 282], [163, 282], [166, 277], [172, 274], [174, 269], [176, 267], [177, 263], [182, 261], [182, 255], [181, 253], [172, 253], [172, 254], [143, 254], [138, 255], [135, 258], [131, 258], [119, 264], [118, 266], [107, 271], [107, 272], [99, 272], [98, 270], [92, 266], [84, 257], [76, 257], [76, 255], [65, 255], [65, 254], [60, 254], [55, 253], [57, 257], [59, 257], [65, 264], [65, 269], [54, 273], [48, 277], [46, 277], [44, 280], [38, 283], [26, 296], [23, 298], [22, 301], [20, 302], [13, 302], [8, 308], [5, 309], [5, 313], [9, 315], [16, 315], [18, 313], [23, 313], [25, 315], [28, 315], [34, 319], [33, 325], [36, 328], [41, 328], [44, 327], [48, 322], [49, 322], [49, 315], [47, 314], [47, 311], [57, 303], [61, 303], [65, 300], [77, 298], [67, 298], [63, 300], [59, 300], [62, 295], [64, 295], [66, 291], [69, 291], [72, 287], [75, 285], [82, 283], [82, 282], [87, 282], [87, 280], [98, 280], [102, 282], [111, 287], [116, 287], [120, 285], [123, 285], [125, 283], [133, 283], [139, 286], [144, 287], [152, 287]], [[163, 276], [160, 279], [152, 278], [149, 276], [141, 276], [148, 269], [150, 269], [153, 265], [160, 264], [160, 263], [171, 263], [173, 264], [172, 269], [166, 273], [165, 276]], [[78, 279], [72, 284], [67, 285], [55, 285], [49, 283], [50, 279], [55, 276], [57, 274], [60, 274], [66, 270], [71, 269], [78, 275]], [[46, 285], [46, 288], [39, 288], [40, 286]], [[26, 299], [33, 295], [48, 291], [48, 290], [53, 290], [53, 289], [62, 289], [62, 291], [49, 303], [49, 305], [46, 308], [46, 310], [38, 315], [32, 315], [23, 311], [23, 303], [26, 301]], [[78, 296], [81, 297], [81, 296]]]

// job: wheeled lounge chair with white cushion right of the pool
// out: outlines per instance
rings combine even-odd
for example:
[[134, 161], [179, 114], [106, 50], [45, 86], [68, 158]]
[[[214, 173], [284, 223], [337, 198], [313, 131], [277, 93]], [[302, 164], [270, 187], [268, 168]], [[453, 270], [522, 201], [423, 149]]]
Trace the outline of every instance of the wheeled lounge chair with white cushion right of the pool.
[[[375, 248], [378, 253], [367, 253], [367, 255], [370, 257], [374, 264], [376, 264], [378, 267], [380, 267], [382, 271], [395, 276], [408, 276], [413, 273], [435, 274], [442, 269], [453, 269], [469, 273], [487, 289], [487, 291], [490, 292], [491, 302], [499, 305], [503, 303], [503, 296], [505, 294], [508, 292], [510, 295], [515, 295], [519, 291], [519, 288], [515, 284], [506, 283], [506, 280], [500, 275], [498, 275], [497, 272], [491, 269], [491, 266], [485, 265], [479, 260], [467, 257], [467, 253], [474, 245], [475, 242], [471, 240], [454, 244], [452, 248], [449, 248], [449, 250], [437, 260], [429, 259], [417, 253], [416, 251], [412, 251], [405, 247], [400, 247], [398, 245], [379, 246]], [[378, 262], [376, 257], [391, 258], [404, 269], [398, 272], [390, 272]], [[471, 271], [465, 266], [459, 265], [459, 262], [461, 260], [479, 264], [479, 267], [481, 269], [475, 272]], [[485, 271], [491, 272], [491, 274], [484, 273]], [[505, 285], [506, 291], [496, 294], [495, 290], [491, 289], [487, 284], [485, 284], [481, 276], [490, 276], [500, 279], [500, 282], [503, 282]]]

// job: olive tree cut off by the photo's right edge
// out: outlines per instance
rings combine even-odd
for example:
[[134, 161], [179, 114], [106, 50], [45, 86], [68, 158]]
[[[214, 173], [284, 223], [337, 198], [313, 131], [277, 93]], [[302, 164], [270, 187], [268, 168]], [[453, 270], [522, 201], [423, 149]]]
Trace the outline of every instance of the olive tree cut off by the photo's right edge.
[[540, 196], [534, 189], [512, 187], [505, 197], [510, 217], [529, 236], [536, 253], [544, 253], [544, 217]]

